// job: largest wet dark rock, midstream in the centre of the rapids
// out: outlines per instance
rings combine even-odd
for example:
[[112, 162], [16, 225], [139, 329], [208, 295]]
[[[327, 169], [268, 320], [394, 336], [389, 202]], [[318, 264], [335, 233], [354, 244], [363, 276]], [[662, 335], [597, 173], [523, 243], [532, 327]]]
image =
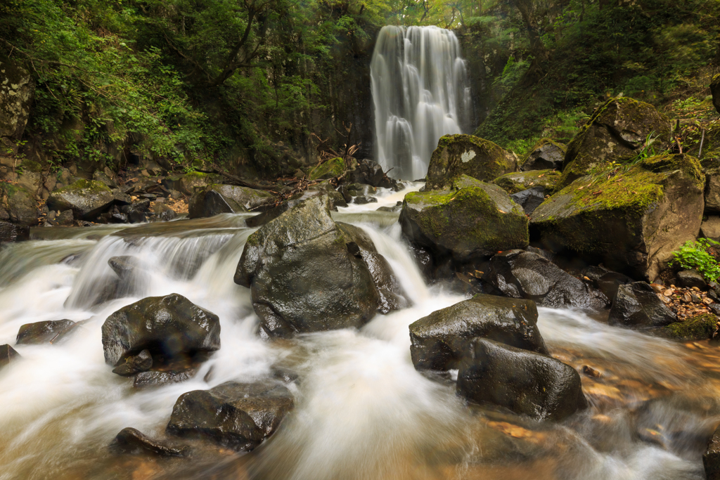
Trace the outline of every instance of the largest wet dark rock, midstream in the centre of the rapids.
[[327, 196], [313, 197], [248, 237], [235, 283], [251, 288], [264, 335], [361, 327], [403, 297], [382, 284], [392, 271], [369, 237], [333, 222], [329, 207]]

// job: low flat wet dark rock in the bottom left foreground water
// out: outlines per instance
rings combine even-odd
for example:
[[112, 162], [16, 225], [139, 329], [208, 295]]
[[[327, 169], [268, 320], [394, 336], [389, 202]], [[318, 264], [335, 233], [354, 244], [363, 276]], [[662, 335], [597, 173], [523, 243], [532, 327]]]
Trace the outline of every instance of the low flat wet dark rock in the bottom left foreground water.
[[235, 450], [252, 450], [277, 430], [293, 406], [292, 394], [282, 384], [230, 381], [182, 394], [167, 431], [209, 438]]

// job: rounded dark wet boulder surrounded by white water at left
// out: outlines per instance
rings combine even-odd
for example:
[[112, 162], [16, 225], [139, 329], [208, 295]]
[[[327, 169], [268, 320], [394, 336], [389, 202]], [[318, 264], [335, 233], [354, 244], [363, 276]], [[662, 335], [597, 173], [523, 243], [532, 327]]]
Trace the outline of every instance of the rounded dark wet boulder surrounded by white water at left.
[[161, 361], [194, 356], [220, 348], [220, 320], [179, 294], [148, 296], [107, 317], [102, 346], [112, 366], [146, 348]]

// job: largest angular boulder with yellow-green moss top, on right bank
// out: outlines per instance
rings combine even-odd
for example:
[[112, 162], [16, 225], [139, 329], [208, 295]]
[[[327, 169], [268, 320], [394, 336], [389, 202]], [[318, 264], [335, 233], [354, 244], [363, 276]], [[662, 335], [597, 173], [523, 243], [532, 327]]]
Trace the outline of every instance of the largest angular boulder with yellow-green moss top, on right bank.
[[531, 227], [549, 250], [652, 281], [698, 235], [704, 177], [690, 155], [657, 155], [624, 173], [578, 178], [531, 214]]

